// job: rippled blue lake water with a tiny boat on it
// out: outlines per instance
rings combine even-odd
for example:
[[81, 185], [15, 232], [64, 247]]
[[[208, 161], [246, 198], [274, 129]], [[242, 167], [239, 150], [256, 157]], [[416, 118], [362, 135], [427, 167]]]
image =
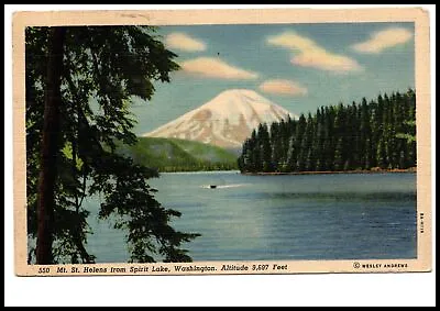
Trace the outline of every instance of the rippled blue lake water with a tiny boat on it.
[[[183, 213], [176, 229], [201, 234], [185, 244], [195, 262], [417, 257], [416, 174], [170, 173], [150, 184]], [[86, 202], [88, 249], [97, 263], [127, 262], [123, 233], [96, 220], [98, 203]]]

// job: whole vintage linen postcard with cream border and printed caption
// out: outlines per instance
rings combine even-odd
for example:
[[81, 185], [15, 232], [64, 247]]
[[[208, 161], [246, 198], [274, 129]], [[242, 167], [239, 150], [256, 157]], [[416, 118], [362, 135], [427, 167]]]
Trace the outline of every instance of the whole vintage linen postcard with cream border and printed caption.
[[19, 276], [431, 269], [421, 9], [18, 12]]

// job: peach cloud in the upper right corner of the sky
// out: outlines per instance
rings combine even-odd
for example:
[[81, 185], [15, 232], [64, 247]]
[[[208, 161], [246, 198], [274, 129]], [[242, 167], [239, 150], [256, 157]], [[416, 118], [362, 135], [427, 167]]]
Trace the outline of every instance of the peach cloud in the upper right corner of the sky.
[[380, 54], [384, 49], [408, 42], [411, 37], [413, 32], [406, 29], [392, 27], [373, 33], [370, 40], [354, 44], [352, 48], [361, 53]]

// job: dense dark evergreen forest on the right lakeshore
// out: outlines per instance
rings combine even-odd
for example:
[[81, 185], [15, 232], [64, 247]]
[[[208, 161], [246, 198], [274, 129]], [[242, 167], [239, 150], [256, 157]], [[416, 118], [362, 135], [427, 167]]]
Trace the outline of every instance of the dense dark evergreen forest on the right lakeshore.
[[270, 125], [243, 144], [242, 173], [405, 169], [416, 166], [416, 95], [318, 108]]

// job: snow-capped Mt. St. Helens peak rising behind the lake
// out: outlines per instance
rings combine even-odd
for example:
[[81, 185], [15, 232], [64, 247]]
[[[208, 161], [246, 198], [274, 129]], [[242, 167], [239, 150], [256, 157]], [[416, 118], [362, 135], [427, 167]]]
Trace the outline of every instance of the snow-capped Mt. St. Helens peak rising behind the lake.
[[253, 90], [226, 90], [212, 100], [143, 136], [197, 141], [240, 147], [260, 123], [297, 118]]

